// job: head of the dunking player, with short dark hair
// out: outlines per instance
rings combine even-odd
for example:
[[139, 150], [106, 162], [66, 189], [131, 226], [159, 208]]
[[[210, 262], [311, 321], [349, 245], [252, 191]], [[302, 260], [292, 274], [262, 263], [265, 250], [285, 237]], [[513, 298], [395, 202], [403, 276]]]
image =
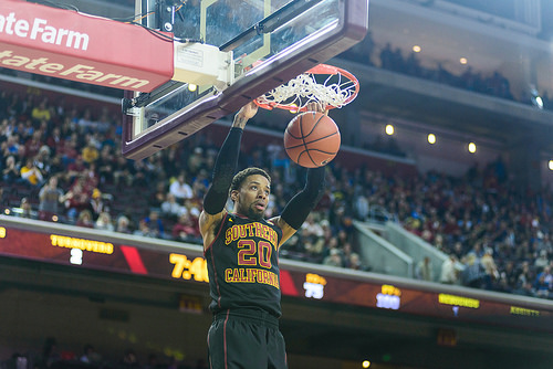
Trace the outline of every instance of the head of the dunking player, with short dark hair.
[[271, 177], [260, 168], [239, 171], [230, 186], [234, 211], [254, 220], [263, 218], [270, 192]]

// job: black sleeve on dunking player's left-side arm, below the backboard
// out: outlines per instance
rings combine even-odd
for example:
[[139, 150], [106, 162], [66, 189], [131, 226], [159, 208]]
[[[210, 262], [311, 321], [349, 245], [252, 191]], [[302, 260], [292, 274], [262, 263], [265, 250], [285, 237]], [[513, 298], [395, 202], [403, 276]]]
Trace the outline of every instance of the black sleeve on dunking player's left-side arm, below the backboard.
[[225, 209], [232, 177], [238, 167], [242, 129], [232, 127], [222, 144], [213, 168], [211, 184], [204, 198], [204, 211], [215, 215]]

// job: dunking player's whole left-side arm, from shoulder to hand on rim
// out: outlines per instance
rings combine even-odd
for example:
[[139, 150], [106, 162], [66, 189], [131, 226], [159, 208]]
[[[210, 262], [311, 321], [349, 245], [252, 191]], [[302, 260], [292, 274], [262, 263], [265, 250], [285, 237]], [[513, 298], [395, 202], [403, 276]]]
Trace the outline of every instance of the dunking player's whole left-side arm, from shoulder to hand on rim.
[[211, 184], [204, 198], [204, 210], [199, 219], [200, 232], [204, 238], [204, 249], [208, 247], [213, 241], [216, 236], [213, 226], [225, 215], [225, 204], [227, 203], [232, 177], [238, 166], [242, 131], [248, 119], [252, 118], [257, 112], [258, 106], [253, 102], [243, 106], [238, 112], [234, 116], [232, 127], [217, 156]]

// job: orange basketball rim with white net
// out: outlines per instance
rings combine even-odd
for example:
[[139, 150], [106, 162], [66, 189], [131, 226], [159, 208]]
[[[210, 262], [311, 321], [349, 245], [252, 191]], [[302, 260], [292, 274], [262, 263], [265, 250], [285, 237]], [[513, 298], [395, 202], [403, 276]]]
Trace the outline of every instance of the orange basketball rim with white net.
[[254, 102], [269, 110], [276, 107], [293, 113], [306, 112], [307, 104], [315, 102], [333, 109], [349, 104], [358, 92], [359, 82], [352, 73], [337, 66], [319, 64]]

